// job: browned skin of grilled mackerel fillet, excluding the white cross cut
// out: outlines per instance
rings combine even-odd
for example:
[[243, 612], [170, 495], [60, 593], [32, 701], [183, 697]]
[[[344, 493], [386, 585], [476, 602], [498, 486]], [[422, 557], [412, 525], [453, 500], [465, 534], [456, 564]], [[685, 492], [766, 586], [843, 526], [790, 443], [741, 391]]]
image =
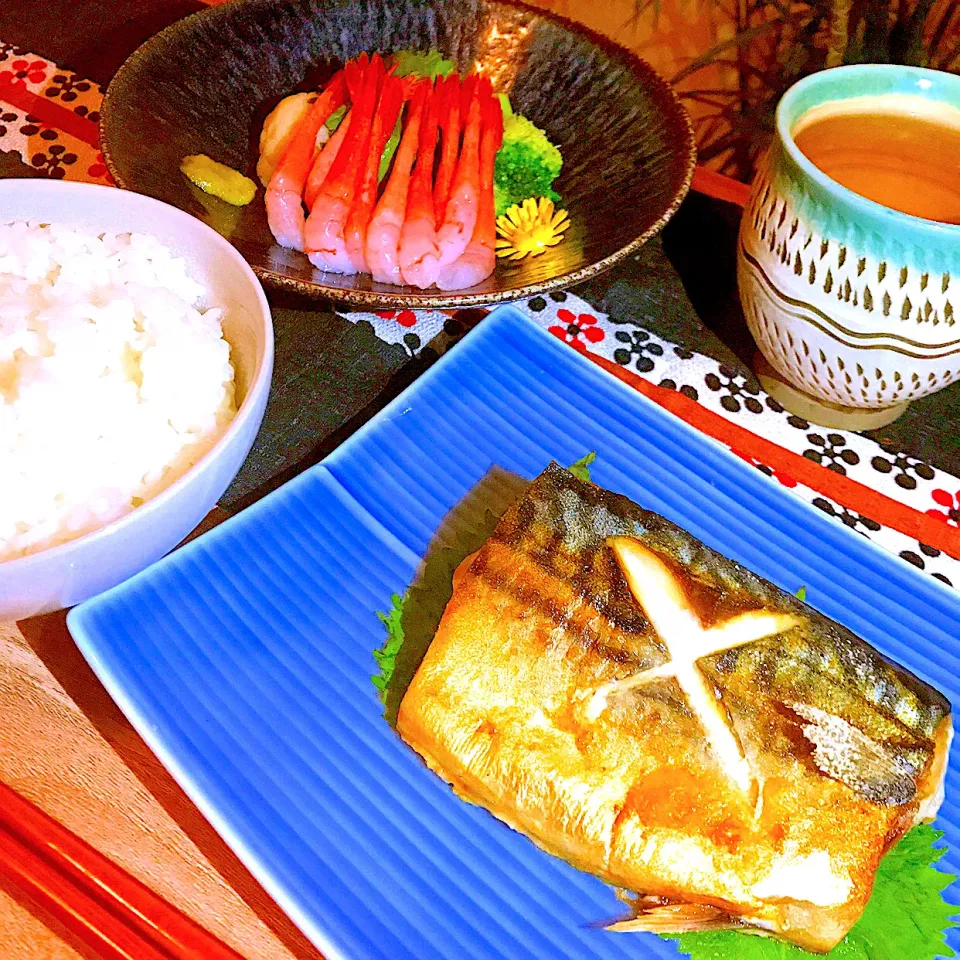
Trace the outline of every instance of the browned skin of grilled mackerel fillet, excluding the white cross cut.
[[[669, 659], [617, 537], [674, 572], [704, 627], [751, 610], [795, 618], [697, 660], [749, 790], [675, 678], [588, 709], [602, 685]], [[935, 814], [952, 726], [941, 694], [848, 630], [552, 464], [458, 569], [398, 731], [459, 796], [576, 867], [827, 951], [862, 913], [884, 853]]]

